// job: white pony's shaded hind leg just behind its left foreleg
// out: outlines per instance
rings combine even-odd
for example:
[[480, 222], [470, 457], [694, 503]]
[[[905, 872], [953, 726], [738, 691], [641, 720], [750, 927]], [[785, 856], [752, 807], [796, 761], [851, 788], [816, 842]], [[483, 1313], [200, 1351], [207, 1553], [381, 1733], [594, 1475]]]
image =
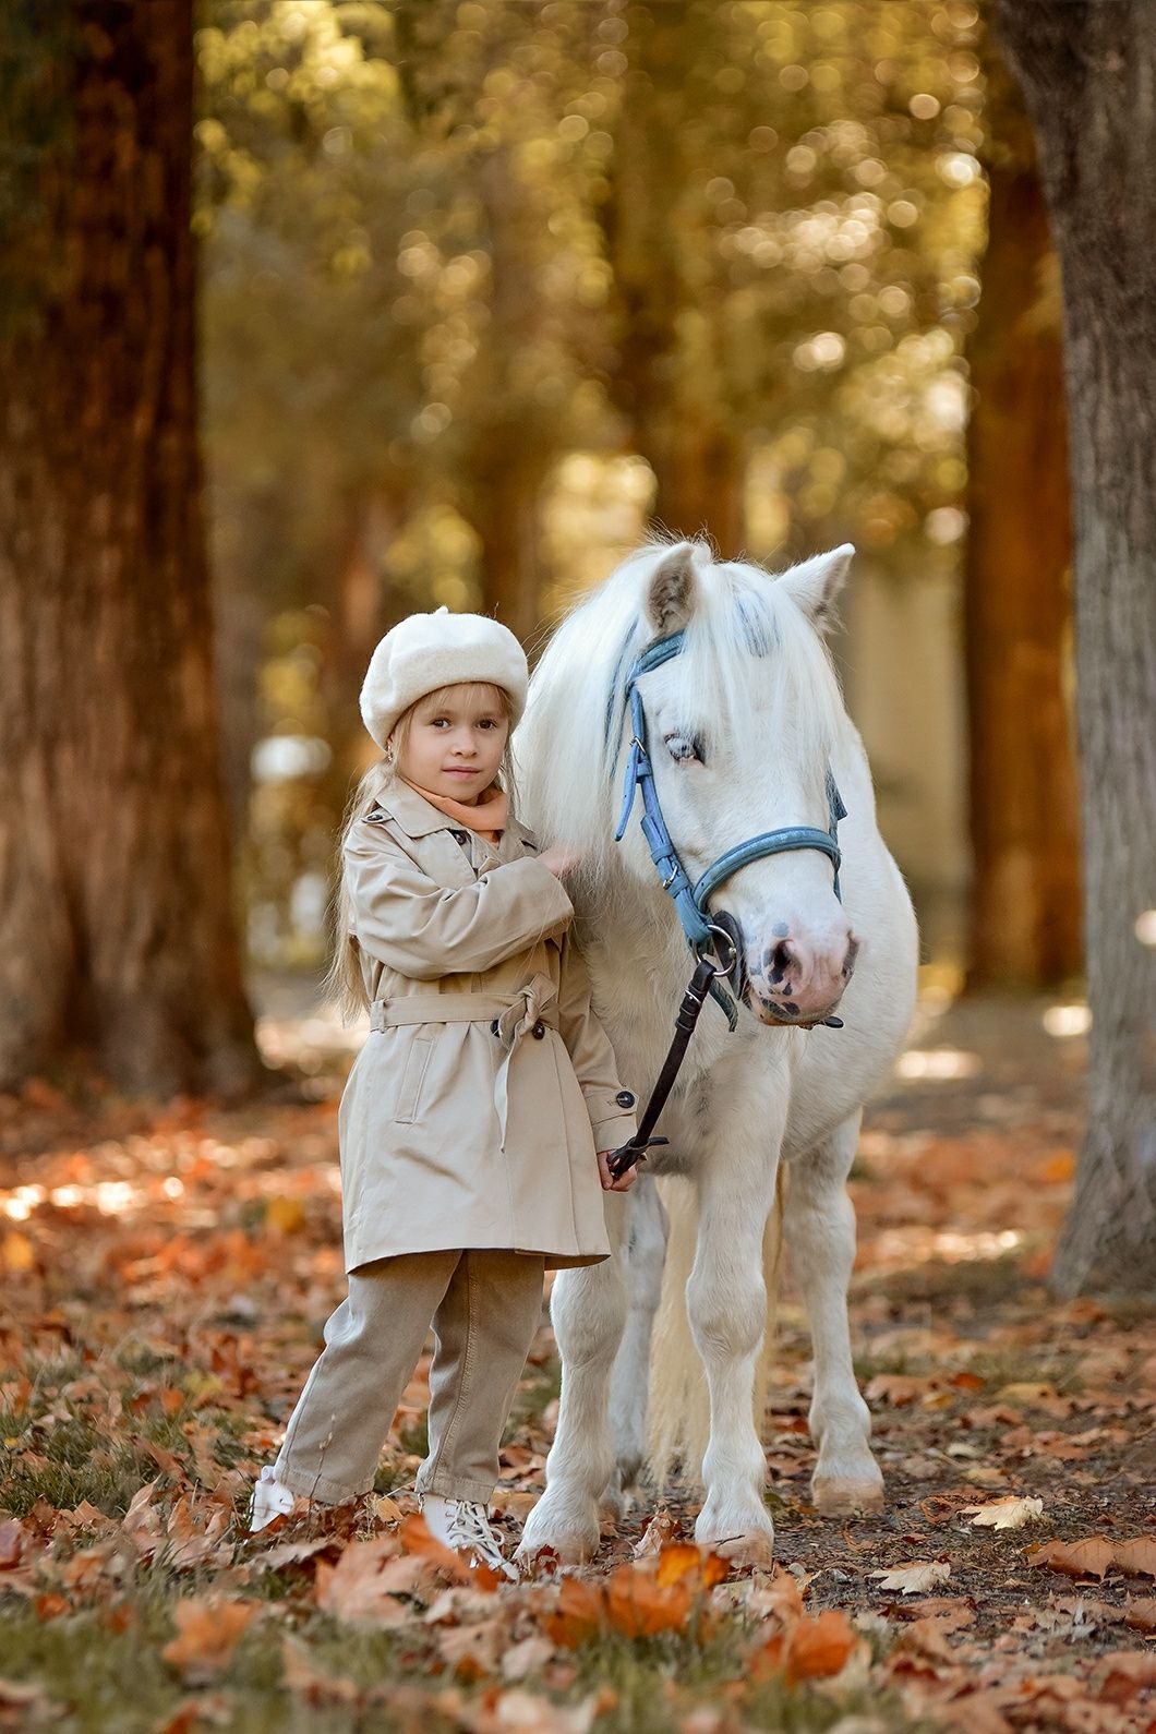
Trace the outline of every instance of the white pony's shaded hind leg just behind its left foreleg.
[[638, 1481], [646, 1457], [646, 1385], [650, 1377], [650, 1337], [653, 1332], [662, 1268], [666, 1262], [667, 1216], [659, 1188], [640, 1174], [631, 1188], [629, 1235], [624, 1250], [626, 1332], [610, 1375], [610, 1432], [614, 1436], [614, 1472], [605, 1490], [607, 1502], [620, 1509], [622, 1493]]

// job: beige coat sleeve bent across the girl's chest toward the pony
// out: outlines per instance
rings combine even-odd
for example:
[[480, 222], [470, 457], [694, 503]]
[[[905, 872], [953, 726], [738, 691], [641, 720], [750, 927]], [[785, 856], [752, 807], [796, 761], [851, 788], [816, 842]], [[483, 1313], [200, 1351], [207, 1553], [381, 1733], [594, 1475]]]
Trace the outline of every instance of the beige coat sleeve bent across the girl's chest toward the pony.
[[574, 919], [562, 883], [532, 855], [447, 888], [374, 827], [350, 832], [343, 867], [359, 945], [414, 981], [492, 969]]

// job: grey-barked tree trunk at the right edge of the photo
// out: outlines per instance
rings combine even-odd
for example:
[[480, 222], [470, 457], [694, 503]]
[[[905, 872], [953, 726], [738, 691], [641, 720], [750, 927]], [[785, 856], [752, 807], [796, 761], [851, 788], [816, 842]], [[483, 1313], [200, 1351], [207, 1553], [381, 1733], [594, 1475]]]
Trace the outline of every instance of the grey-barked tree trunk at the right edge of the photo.
[[1002, 0], [1064, 281], [1088, 1131], [1055, 1281], [1156, 1290], [1156, 7]]

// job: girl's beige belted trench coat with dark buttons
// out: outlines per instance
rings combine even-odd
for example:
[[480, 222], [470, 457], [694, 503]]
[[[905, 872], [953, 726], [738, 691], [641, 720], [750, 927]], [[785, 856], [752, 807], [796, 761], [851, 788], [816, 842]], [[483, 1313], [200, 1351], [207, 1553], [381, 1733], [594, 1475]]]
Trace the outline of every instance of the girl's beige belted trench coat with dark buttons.
[[596, 1150], [633, 1136], [634, 1094], [574, 905], [534, 855], [516, 820], [494, 848], [406, 786], [345, 839], [371, 1001], [338, 1115], [347, 1271], [449, 1247], [610, 1252]]

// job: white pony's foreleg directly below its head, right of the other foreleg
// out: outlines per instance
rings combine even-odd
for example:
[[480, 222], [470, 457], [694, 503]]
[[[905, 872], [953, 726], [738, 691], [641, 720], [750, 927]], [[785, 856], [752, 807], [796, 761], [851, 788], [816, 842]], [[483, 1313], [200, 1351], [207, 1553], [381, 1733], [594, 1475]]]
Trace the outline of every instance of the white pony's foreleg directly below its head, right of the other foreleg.
[[695, 1540], [744, 1564], [770, 1564], [775, 1526], [763, 1500], [766, 1457], [754, 1425], [754, 1379], [766, 1328], [763, 1233], [775, 1202], [778, 1139], [747, 1153], [716, 1144], [698, 1179], [698, 1242], [686, 1314], [707, 1375], [711, 1439]]

